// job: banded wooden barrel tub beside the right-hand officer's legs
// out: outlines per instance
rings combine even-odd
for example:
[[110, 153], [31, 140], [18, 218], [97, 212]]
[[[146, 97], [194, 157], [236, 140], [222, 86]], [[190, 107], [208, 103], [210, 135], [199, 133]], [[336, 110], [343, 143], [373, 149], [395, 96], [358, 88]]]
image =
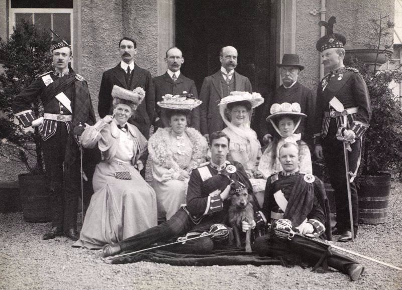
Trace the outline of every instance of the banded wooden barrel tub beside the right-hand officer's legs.
[[381, 224], [386, 221], [390, 186], [391, 175], [387, 172], [359, 178], [359, 223]]

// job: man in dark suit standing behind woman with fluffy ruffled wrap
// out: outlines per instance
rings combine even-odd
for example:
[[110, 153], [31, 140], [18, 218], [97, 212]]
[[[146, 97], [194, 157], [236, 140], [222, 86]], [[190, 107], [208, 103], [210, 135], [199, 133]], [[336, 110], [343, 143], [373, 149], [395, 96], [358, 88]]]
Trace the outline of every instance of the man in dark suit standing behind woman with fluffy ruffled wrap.
[[[169, 48], [166, 51], [165, 62], [167, 64], [166, 73], [153, 78], [156, 102], [162, 101], [162, 96], [165, 94], [178, 95], [183, 92], [190, 93], [193, 97], [198, 98], [198, 92], [194, 81], [180, 73], [180, 67], [184, 63], [181, 50], [177, 47]], [[156, 115], [154, 126], [162, 128], [168, 126], [169, 124], [164, 116], [164, 110], [158, 106], [155, 108]], [[199, 107], [194, 108], [191, 112], [190, 126], [199, 130]]]

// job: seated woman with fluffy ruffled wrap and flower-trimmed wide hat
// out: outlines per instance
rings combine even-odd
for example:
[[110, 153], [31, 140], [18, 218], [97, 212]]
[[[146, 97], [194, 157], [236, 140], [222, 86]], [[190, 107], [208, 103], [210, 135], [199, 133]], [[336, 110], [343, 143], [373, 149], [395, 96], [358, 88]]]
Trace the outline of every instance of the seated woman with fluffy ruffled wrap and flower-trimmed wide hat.
[[153, 163], [152, 188], [156, 192], [158, 218], [170, 219], [185, 203], [191, 170], [205, 162], [208, 144], [190, 128], [191, 109], [202, 102], [186, 95], [165, 95], [158, 106], [165, 109], [165, 128], [149, 138], [148, 152]]

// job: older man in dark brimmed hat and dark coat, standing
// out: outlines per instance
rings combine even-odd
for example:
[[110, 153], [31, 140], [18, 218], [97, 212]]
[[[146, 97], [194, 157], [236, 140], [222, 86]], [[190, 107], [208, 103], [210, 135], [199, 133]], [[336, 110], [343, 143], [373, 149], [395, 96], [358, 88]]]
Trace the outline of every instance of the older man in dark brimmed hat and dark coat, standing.
[[316, 97], [310, 89], [300, 84], [297, 81], [300, 71], [304, 70], [304, 66], [300, 64], [297, 54], [284, 54], [282, 63], [276, 64], [279, 67], [280, 78], [282, 85], [280, 85], [272, 95], [266, 99], [266, 105], [261, 115], [260, 124], [260, 137], [264, 143], [268, 143], [273, 135], [273, 128], [266, 118], [269, 115], [269, 108], [274, 103], [299, 103], [301, 112], [307, 115], [299, 125], [299, 132], [302, 133], [302, 139], [309, 141], [313, 136], [312, 120], [314, 119]]

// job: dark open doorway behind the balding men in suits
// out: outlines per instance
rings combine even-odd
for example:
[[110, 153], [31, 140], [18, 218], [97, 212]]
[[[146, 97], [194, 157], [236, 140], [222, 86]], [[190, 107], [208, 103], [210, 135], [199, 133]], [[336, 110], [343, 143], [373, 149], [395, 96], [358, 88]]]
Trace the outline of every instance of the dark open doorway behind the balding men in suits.
[[[198, 92], [203, 80], [220, 69], [219, 51], [234, 46], [236, 71], [247, 76], [264, 97], [275, 87], [274, 0], [176, 0], [176, 46], [182, 50], [182, 73]], [[253, 119], [258, 129], [260, 106]]]

